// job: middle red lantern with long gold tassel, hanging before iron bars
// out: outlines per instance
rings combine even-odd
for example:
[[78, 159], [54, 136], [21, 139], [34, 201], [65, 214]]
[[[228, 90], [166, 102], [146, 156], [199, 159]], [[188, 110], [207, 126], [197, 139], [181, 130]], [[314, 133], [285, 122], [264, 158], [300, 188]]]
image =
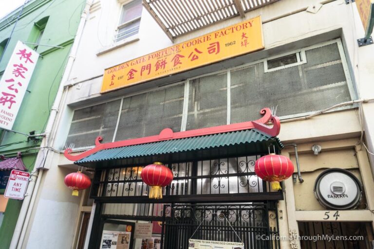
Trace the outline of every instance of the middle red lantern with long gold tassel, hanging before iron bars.
[[162, 187], [168, 186], [173, 180], [173, 173], [161, 162], [146, 166], [140, 176], [143, 182], [150, 186], [151, 199], [162, 199]]

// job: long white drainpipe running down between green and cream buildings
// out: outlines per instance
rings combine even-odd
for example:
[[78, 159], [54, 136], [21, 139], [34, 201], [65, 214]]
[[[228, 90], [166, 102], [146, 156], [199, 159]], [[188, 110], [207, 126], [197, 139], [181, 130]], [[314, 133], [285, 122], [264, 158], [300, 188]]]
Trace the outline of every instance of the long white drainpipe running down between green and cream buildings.
[[[80, 39], [82, 37], [83, 28], [86, 24], [87, 16], [88, 16], [90, 7], [92, 5], [92, 1], [93, 0], [88, 0], [86, 2], [86, 6], [85, 6], [85, 8], [82, 12], [81, 17], [80, 17], [80, 22], [79, 22], [78, 29], [77, 29], [77, 32], [76, 32], [75, 41], [74, 41], [73, 46], [71, 48], [69, 58], [68, 58], [68, 61], [66, 63], [66, 66], [65, 66], [65, 70], [64, 70], [64, 73], [63, 73], [62, 78], [61, 78], [60, 86], [59, 86], [59, 88], [57, 90], [57, 93], [56, 93], [56, 98], [55, 98], [53, 107], [51, 109], [51, 113], [50, 113], [50, 116], [49, 116], [49, 119], [48, 119], [48, 123], [47, 123], [46, 128], [43, 132], [43, 135], [45, 135], [45, 137], [42, 140], [42, 144], [44, 143], [43, 147], [47, 147], [47, 149], [49, 149], [50, 134], [51, 134], [52, 128], [53, 128], [55, 120], [56, 120], [57, 112], [59, 110], [58, 107], [59, 107], [61, 99], [64, 95], [64, 91], [65, 91], [64, 85], [67, 82], [68, 77], [70, 75], [70, 72], [73, 68], [73, 63], [75, 61], [75, 55], [76, 55], [76, 52], [78, 50], [78, 44], [79, 44]], [[40, 153], [40, 151], [39, 151], [36, 161], [40, 161], [40, 160], [38, 160], [38, 158], [40, 158], [40, 157], [44, 157], [44, 155], [43, 155], [43, 153]], [[44, 158], [41, 159], [41, 161], [44, 161], [44, 160], [45, 160]], [[37, 165], [35, 165], [34, 168], [35, 167], [37, 167]], [[11, 241], [9, 249], [19, 249], [19, 248], [21, 248], [22, 244], [23, 244], [23, 241], [24, 241], [24, 237], [25, 237], [26, 230], [27, 230], [27, 227], [28, 227], [28, 223], [29, 223], [29, 220], [30, 220], [30, 217], [31, 217], [33, 206], [35, 204], [37, 191], [38, 191], [38, 188], [39, 188], [39, 185], [40, 185], [40, 180], [41, 180], [41, 177], [43, 175], [43, 170], [42, 169], [37, 168], [36, 170], [34, 170], [34, 172], [38, 172], [38, 177], [37, 177], [36, 183], [33, 183], [33, 182], [35, 182], [35, 179], [34, 179], [33, 181], [30, 181], [30, 183], [27, 187], [26, 193], [28, 193], [28, 195], [25, 196], [25, 198], [23, 199], [22, 207], [21, 207], [21, 210], [19, 212], [19, 218], [18, 218], [17, 224], [16, 224], [16, 229], [13, 233], [13, 237], [12, 237], [12, 241]], [[34, 178], [35, 178], [35, 176], [34, 176]]]

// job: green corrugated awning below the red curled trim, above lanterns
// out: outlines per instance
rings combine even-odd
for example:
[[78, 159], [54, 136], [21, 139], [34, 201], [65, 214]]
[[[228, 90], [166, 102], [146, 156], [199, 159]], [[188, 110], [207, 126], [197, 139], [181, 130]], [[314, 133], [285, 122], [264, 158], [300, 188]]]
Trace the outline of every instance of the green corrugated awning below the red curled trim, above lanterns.
[[[126, 160], [134, 158], [149, 158], [150, 161], [160, 158], [163, 162], [166, 162], [166, 160], [176, 160], [176, 158], [188, 160], [189, 158], [202, 158], [202, 155], [206, 154], [209, 150], [215, 151], [215, 156], [226, 156], [224, 151], [229, 151], [230, 148], [231, 152], [233, 151], [232, 148], [235, 148], [236, 151], [243, 153], [244, 151], [248, 153], [249, 150], [254, 150], [253, 154], [259, 154], [267, 152], [267, 146], [271, 144], [275, 145], [277, 149], [283, 147], [277, 137], [270, 137], [256, 129], [250, 129], [104, 149], [75, 161], [75, 164], [96, 168], [147, 161]], [[224, 148], [226, 150], [222, 150]], [[204, 153], [202, 154], [202, 152]], [[176, 157], [176, 154], [184, 156]], [[174, 155], [172, 159], [170, 155]]]

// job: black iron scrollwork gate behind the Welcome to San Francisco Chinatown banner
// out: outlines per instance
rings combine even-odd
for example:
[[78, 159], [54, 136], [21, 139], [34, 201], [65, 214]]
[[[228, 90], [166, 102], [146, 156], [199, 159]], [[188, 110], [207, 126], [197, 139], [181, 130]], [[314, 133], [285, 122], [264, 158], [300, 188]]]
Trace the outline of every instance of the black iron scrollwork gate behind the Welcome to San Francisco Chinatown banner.
[[243, 242], [245, 249], [278, 249], [276, 205], [176, 204], [165, 205], [164, 249], [188, 249], [188, 240]]

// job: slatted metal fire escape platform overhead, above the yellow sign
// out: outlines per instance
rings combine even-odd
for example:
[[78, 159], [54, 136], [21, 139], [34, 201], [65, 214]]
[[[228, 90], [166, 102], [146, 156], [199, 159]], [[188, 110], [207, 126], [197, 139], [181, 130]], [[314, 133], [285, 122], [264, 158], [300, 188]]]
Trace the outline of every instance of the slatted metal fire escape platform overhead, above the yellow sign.
[[143, 0], [170, 39], [279, 0]]

